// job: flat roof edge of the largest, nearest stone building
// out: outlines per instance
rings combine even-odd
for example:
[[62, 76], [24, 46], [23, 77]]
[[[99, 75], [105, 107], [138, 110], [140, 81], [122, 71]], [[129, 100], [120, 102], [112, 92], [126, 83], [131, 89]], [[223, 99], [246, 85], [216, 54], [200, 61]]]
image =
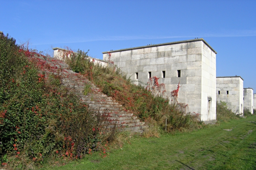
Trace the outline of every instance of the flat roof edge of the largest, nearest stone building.
[[106, 54], [106, 53], [113, 53], [113, 52], [120, 52], [120, 51], [128, 51], [128, 50], [133, 50], [133, 49], [150, 48], [150, 47], [180, 44], [180, 43], [186, 43], [186, 42], [196, 42], [196, 41], [203, 41], [204, 44], [206, 44], [215, 54], [217, 54], [217, 52], [203, 38], [192, 39], [192, 40], [184, 40], [184, 41], [167, 42], [167, 43], [162, 43], [162, 44], [153, 44], [153, 45], [147, 45], [147, 46], [141, 46], [141, 47], [124, 48], [124, 49], [113, 50], [113, 51], [105, 51], [105, 52], [102, 52], [102, 53]]

